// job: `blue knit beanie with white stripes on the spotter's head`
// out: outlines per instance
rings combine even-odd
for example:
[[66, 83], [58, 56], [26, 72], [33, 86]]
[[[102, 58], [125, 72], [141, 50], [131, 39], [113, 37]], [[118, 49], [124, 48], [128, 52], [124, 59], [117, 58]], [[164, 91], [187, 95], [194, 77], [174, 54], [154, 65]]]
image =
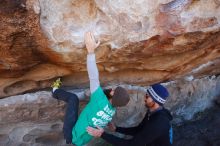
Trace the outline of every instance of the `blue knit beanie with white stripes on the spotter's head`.
[[163, 105], [166, 102], [167, 97], [169, 96], [169, 92], [167, 91], [167, 89], [160, 84], [152, 85], [150, 88], [147, 89], [147, 93], [159, 105]]

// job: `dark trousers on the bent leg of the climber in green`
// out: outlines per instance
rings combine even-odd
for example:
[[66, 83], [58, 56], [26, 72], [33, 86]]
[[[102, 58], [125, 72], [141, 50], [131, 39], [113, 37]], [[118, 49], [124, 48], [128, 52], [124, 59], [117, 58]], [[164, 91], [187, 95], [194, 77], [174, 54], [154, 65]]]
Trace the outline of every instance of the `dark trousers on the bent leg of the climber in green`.
[[63, 134], [66, 139], [66, 143], [72, 143], [72, 129], [78, 119], [79, 99], [76, 94], [66, 92], [62, 89], [56, 89], [53, 93], [53, 97], [65, 101], [66, 113], [63, 124]]

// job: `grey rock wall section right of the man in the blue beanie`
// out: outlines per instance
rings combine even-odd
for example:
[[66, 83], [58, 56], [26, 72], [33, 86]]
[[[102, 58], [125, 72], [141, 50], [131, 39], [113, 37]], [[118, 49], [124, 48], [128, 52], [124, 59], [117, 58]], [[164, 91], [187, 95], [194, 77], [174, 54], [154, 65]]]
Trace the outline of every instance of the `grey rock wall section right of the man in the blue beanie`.
[[220, 95], [220, 76], [175, 81], [169, 83], [168, 89], [171, 98], [167, 107], [173, 111], [173, 123], [182, 124], [193, 119], [196, 113], [213, 106], [213, 101]]

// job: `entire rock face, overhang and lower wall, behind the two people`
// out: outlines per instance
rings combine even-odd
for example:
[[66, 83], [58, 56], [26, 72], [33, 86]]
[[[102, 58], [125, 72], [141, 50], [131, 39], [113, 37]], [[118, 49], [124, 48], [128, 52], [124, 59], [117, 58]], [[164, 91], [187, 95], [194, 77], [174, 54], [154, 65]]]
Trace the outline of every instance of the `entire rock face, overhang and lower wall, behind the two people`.
[[212, 130], [219, 129], [219, 110], [201, 124], [182, 125], [220, 95], [219, 0], [1, 0], [0, 20], [0, 145], [64, 145], [63, 102], [47, 91], [12, 95], [48, 88], [58, 76], [65, 86], [87, 89], [83, 37], [89, 30], [101, 41], [102, 86], [130, 89], [117, 125], [137, 125], [146, 112], [144, 88], [170, 81], [166, 106], [178, 126], [176, 144], [219, 145], [219, 130]]

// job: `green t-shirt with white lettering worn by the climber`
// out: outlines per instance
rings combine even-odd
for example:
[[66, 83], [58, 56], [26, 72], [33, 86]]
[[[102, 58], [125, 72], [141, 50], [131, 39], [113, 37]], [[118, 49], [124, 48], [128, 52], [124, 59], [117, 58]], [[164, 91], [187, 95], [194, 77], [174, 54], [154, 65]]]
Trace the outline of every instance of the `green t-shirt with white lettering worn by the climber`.
[[92, 93], [89, 103], [81, 112], [76, 125], [72, 130], [72, 143], [77, 146], [82, 146], [88, 143], [92, 136], [86, 131], [88, 126], [104, 128], [115, 114], [115, 108], [110, 104], [102, 88], [99, 86]]

